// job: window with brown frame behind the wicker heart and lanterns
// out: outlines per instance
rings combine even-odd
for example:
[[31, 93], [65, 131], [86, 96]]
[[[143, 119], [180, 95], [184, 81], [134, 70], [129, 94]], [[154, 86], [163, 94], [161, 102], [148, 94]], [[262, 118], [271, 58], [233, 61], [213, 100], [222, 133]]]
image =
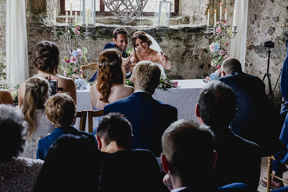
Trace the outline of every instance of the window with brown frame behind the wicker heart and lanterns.
[[[179, 0], [171, 0], [171, 16], [177, 16], [179, 13]], [[70, 2], [73, 5], [73, 14], [75, 11], [80, 12], [80, 0], [60, 0], [61, 14], [70, 11]], [[149, 0], [144, 7], [143, 16], [154, 16], [156, 0]], [[113, 16], [109, 9], [103, 3], [103, 0], [96, 0], [96, 15]]]

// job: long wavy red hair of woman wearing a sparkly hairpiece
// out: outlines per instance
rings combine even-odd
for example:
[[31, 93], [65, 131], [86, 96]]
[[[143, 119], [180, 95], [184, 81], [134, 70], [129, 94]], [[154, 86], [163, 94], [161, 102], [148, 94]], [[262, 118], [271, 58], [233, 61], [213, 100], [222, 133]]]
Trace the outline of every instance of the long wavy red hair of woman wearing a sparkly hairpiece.
[[97, 90], [100, 92], [100, 101], [108, 102], [111, 86], [114, 83], [124, 84], [121, 54], [115, 49], [106, 49], [99, 55], [97, 76]]

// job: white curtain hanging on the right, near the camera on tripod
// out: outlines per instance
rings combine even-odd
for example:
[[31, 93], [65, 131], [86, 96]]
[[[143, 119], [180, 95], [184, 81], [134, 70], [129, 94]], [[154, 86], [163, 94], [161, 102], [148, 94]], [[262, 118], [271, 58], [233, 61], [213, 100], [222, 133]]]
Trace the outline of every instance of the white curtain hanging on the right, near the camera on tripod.
[[[246, 32], [247, 32], [247, 15], [248, 0], [235, 0], [236, 14], [233, 17], [233, 26], [238, 26], [236, 36], [231, 40], [230, 57], [237, 58], [244, 71], [245, 54], [246, 54]], [[234, 30], [234, 27], [233, 27]]]

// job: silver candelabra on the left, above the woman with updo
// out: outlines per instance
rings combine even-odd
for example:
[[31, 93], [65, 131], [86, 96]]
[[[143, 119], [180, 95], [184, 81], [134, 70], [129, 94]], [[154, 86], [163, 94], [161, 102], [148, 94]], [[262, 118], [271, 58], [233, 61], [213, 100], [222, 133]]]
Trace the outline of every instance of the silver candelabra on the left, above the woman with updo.
[[[85, 26], [86, 32], [84, 32], [83, 37], [81, 37], [80, 33], [79, 34], [71, 34], [71, 33], [73, 33], [73, 31], [72, 31], [72, 28], [73, 28], [72, 27], [73, 26], [72, 19], [73, 19], [73, 17], [69, 17], [69, 19], [70, 19], [70, 24], [68, 23], [69, 25], [65, 26], [65, 31], [58, 31], [58, 30], [56, 30], [57, 25], [53, 25], [53, 31], [51, 31], [51, 32], [53, 32], [55, 39], [61, 41], [62, 39], [66, 38], [66, 40], [68, 40], [70, 42], [70, 53], [69, 54], [71, 54], [73, 52], [73, 46], [72, 46], [73, 41], [75, 41], [75, 45], [76, 45], [76, 39], [77, 38], [80, 38], [83, 41], [87, 40], [90, 32], [88, 32], [89, 26]], [[62, 35], [60, 35], [60, 33]]]

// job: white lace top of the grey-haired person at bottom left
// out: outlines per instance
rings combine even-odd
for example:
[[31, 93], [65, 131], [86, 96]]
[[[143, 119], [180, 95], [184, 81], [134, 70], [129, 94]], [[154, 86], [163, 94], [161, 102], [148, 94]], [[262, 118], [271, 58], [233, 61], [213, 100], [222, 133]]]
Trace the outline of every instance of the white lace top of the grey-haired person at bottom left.
[[13, 157], [0, 162], [1, 192], [30, 192], [44, 161], [24, 157]]

